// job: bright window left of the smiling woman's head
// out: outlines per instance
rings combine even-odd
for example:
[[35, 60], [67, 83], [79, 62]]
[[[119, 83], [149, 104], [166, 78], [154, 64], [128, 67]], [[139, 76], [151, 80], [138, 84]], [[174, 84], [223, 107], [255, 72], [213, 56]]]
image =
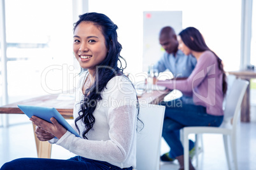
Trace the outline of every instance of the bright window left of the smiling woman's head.
[[9, 103], [62, 90], [74, 59], [72, 1], [8, 0], [5, 11]]

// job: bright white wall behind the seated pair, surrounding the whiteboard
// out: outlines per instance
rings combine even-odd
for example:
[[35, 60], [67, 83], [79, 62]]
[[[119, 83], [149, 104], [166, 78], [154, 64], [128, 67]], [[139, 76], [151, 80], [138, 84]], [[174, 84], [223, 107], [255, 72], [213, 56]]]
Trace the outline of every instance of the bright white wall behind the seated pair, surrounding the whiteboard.
[[143, 70], [143, 11], [182, 11], [183, 29], [199, 29], [225, 70], [239, 69], [241, 0], [89, 0], [92, 11], [108, 15], [118, 25], [126, 72]]

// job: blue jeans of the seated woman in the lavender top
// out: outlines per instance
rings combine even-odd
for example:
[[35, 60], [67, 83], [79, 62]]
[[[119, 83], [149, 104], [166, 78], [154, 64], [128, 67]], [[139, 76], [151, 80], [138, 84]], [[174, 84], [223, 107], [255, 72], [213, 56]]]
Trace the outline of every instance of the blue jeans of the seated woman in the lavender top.
[[176, 131], [186, 126], [215, 126], [222, 124], [223, 116], [206, 113], [206, 108], [200, 105], [182, 103], [180, 99], [172, 100], [161, 105], [166, 106], [162, 136], [171, 148], [171, 155], [183, 155], [183, 146]]

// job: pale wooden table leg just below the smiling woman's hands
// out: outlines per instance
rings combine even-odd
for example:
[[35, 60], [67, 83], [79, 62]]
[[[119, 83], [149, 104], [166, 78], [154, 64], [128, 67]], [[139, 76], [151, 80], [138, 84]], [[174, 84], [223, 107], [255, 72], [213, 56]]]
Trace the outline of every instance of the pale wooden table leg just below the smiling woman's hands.
[[[36, 125], [33, 125], [34, 131], [36, 130]], [[39, 158], [50, 158], [52, 152], [52, 145], [48, 141], [39, 141], [34, 133], [34, 140], [36, 141], [36, 151]]]

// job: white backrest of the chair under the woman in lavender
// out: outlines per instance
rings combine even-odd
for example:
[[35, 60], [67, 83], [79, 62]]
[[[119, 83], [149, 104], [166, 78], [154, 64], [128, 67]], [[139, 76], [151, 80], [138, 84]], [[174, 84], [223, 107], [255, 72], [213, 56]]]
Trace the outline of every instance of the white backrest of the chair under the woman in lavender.
[[234, 124], [238, 121], [241, 103], [248, 84], [248, 81], [242, 79], [235, 79], [232, 83], [225, 101], [224, 122], [228, 122], [231, 118], [233, 118]]

